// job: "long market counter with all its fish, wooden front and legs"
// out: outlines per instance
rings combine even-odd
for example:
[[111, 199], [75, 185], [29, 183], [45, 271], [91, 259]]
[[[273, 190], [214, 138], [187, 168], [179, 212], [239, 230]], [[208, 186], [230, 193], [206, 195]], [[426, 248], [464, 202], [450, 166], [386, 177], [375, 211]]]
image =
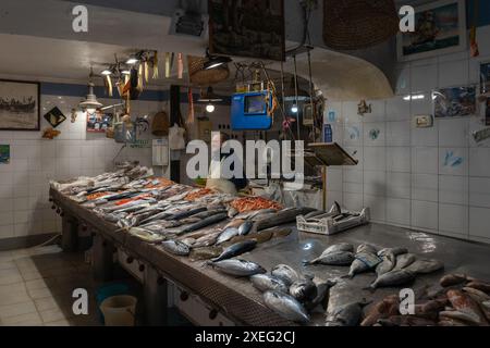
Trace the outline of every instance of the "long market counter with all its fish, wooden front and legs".
[[[298, 215], [320, 212], [175, 184], [139, 166], [51, 183], [50, 197], [66, 250], [79, 226], [93, 233], [96, 277], [110, 279], [113, 248], [137, 261], [150, 324], [166, 321], [168, 282], [182, 289], [179, 301], [205, 302], [211, 322], [488, 324], [482, 245], [379, 224], [299, 232]], [[414, 315], [399, 313], [402, 288], [414, 291]]]

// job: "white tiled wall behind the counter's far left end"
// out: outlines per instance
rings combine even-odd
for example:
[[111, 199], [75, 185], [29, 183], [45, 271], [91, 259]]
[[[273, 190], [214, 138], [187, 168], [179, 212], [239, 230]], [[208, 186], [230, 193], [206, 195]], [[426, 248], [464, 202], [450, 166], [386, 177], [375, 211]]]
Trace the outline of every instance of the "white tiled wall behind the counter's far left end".
[[[113, 167], [112, 160], [121, 145], [103, 134], [87, 134], [82, 113], [71, 123], [71, 109], [78, 102], [79, 98], [41, 96], [41, 129], [49, 126], [42, 115], [54, 105], [68, 117], [57, 128], [61, 135], [54, 140], [42, 139], [41, 132], [0, 132], [0, 144], [11, 146], [11, 163], [0, 165], [0, 239], [60, 232], [60, 219], [48, 202], [49, 179], [96, 175]], [[132, 102], [134, 113], [151, 115], [161, 108], [160, 102]], [[150, 165], [151, 152], [126, 149], [118, 160], [139, 160]]]

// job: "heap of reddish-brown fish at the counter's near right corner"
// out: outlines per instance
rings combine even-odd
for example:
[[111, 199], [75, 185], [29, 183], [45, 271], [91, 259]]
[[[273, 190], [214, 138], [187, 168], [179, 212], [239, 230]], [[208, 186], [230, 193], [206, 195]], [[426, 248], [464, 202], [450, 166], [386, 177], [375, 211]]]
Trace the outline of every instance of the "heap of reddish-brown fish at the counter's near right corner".
[[385, 297], [367, 311], [363, 326], [488, 326], [490, 283], [465, 274], [448, 274], [439, 289], [425, 291], [413, 314], [400, 313], [397, 295]]

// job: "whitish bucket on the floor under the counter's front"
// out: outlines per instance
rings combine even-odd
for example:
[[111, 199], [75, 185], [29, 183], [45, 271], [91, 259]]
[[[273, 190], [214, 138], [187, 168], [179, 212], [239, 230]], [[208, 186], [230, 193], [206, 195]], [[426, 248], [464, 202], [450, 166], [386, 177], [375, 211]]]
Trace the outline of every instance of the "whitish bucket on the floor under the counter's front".
[[103, 300], [100, 310], [106, 326], [134, 326], [137, 299], [130, 295], [112, 296]]

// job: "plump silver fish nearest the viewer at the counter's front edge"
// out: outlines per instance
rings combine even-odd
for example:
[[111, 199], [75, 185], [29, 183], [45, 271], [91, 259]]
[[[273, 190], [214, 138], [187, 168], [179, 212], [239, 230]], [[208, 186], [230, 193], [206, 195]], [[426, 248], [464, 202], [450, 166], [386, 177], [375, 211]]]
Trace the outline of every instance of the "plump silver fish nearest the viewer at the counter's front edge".
[[281, 291], [264, 293], [264, 302], [282, 318], [296, 323], [308, 323], [310, 318], [305, 308], [292, 296]]

